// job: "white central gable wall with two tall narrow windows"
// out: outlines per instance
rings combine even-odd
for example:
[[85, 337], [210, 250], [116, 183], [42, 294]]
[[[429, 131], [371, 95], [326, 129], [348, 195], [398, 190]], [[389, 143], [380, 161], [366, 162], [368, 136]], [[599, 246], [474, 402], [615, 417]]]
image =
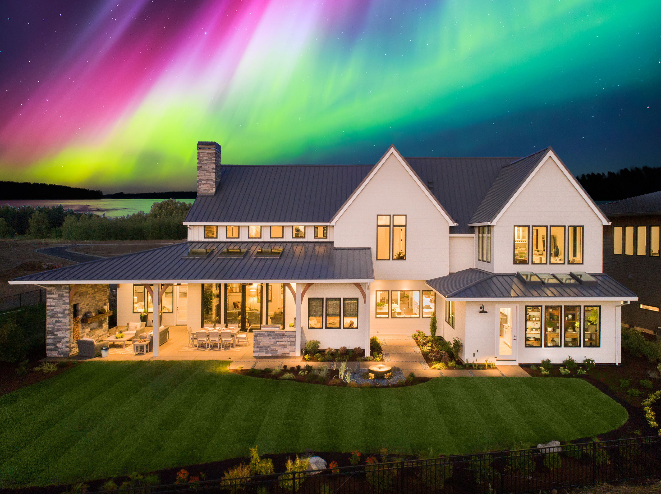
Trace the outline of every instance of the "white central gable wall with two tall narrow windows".
[[[379, 214], [407, 215], [406, 261], [376, 260]], [[449, 225], [393, 155], [340, 216], [334, 233], [336, 247], [371, 247], [379, 280], [428, 280], [449, 272]]]

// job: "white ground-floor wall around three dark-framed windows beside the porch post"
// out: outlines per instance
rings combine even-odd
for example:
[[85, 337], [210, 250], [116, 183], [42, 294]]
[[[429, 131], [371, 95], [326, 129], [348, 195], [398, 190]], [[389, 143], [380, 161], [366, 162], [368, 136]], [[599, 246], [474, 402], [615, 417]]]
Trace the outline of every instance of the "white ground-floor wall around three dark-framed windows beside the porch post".
[[[309, 298], [358, 298], [358, 328], [354, 329], [310, 329], [307, 327], [307, 300]], [[340, 301], [340, 310], [341, 308]], [[289, 311], [289, 308], [288, 308]], [[326, 307], [324, 306], [324, 319]], [[293, 306], [295, 314], [295, 306]], [[319, 340], [321, 349], [332, 348], [337, 350], [340, 347], [354, 349], [360, 347], [365, 349], [367, 325], [367, 309], [363, 302], [363, 296], [360, 290], [351, 283], [317, 283], [313, 284], [303, 297], [301, 304], [301, 319], [303, 331], [301, 331], [301, 346], [305, 347], [305, 342], [310, 340]], [[341, 317], [340, 317], [341, 319]], [[325, 323], [325, 321], [324, 321]], [[340, 321], [340, 325], [342, 325]]]

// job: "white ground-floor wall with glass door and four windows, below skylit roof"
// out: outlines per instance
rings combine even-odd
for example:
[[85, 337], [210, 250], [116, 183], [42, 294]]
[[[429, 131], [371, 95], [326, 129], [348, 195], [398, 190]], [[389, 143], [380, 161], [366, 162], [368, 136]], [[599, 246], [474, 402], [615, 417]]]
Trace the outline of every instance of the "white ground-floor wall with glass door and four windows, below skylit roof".
[[[457, 302], [459, 304], [459, 302]], [[480, 313], [480, 306], [485, 306], [486, 314]], [[603, 300], [576, 300], [574, 302], [551, 302], [548, 305], [580, 305], [580, 306], [601, 306], [601, 347], [583, 348], [583, 347], [529, 347], [525, 348], [525, 306], [544, 306], [545, 302], [528, 301], [514, 302], [465, 302], [466, 307], [466, 356], [471, 360], [485, 362], [485, 359], [494, 362], [496, 359], [497, 328], [496, 317], [498, 313], [496, 306], [516, 306], [517, 308], [517, 328], [516, 328], [516, 358], [520, 364], [539, 364], [541, 360], [550, 358], [554, 364], [559, 364], [567, 356], [571, 356], [580, 362], [584, 358], [594, 358], [598, 364], [619, 363], [620, 347], [620, 327], [617, 319], [621, 311], [619, 302], [605, 302]], [[447, 338], [446, 338], [447, 339]], [[582, 344], [582, 343], [581, 343]], [[475, 357], [473, 357], [475, 353]]]

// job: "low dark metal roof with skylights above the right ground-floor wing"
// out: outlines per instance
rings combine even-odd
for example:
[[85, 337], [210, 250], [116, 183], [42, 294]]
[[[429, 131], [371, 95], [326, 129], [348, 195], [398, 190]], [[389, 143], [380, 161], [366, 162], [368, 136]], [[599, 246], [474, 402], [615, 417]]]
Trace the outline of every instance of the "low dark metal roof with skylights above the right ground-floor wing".
[[471, 268], [427, 280], [427, 284], [449, 299], [539, 297], [637, 299], [635, 293], [607, 274], [598, 273], [592, 276], [597, 278], [596, 285], [526, 285], [516, 273], [492, 274]]

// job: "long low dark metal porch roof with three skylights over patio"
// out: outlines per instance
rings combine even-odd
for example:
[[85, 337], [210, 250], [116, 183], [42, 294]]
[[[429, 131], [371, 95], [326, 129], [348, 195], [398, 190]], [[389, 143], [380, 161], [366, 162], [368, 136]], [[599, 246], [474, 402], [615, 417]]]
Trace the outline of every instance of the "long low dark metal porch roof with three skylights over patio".
[[[227, 247], [247, 249], [243, 257], [219, 257]], [[255, 257], [256, 249], [283, 247], [280, 257]], [[202, 259], [184, 259], [188, 249], [214, 249]], [[332, 242], [184, 242], [21, 276], [12, 281], [190, 282], [373, 280], [371, 249], [340, 249]]]

